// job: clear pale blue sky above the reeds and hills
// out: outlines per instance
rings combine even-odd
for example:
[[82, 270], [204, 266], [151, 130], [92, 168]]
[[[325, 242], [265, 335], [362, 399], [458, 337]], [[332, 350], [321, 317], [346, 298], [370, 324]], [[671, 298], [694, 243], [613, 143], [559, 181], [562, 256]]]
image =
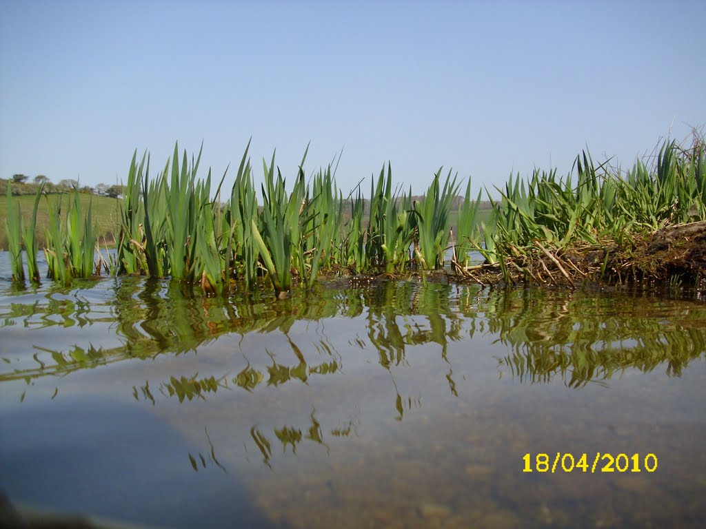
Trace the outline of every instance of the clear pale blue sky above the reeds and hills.
[[110, 184], [203, 140], [230, 188], [251, 136], [258, 179], [343, 149], [345, 192], [388, 160], [414, 193], [626, 167], [706, 123], [705, 27], [698, 0], [0, 0], [0, 176]]

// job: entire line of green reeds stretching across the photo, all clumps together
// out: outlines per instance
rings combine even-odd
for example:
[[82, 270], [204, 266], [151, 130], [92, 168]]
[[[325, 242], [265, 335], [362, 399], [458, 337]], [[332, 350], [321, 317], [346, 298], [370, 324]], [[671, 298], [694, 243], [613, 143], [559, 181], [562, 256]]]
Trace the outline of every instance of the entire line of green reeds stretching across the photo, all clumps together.
[[[263, 160], [258, 203], [249, 147], [223, 204], [210, 197], [210, 170], [205, 180], [198, 178], [201, 150], [189, 162], [175, 145], [173, 156], [153, 179], [150, 157], [145, 154], [138, 162], [135, 152], [120, 202], [116, 262], [104, 263], [106, 268], [199, 284], [207, 295], [229, 291], [233, 281], [246, 291], [270, 283], [282, 298], [294, 284], [311, 288], [322, 272], [443, 269], [446, 251], [453, 248], [457, 274], [472, 276], [479, 269], [468, 263], [469, 251], [477, 250], [486, 260], [484, 267], [499, 270], [505, 281], [544, 282], [553, 281], [556, 274], [568, 278], [570, 266], [561, 253], [569, 248], [620, 248], [640, 233], [706, 218], [703, 142], [690, 149], [665, 142], [654, 163], [638, 161], [626, 172], [594, 164], [584, 152], [565, 177], [539, 169], [531, 178], [511, 176], [496, 193], [486, 190], [492, 210], [483, 221], [481, 192], [472, 199], [468, 181], [457, 209], [455, 240], [451, 212], [460, 183], [451, 171], [442, 182], [440, 169], [421, 200], [413, 202], [411, 189], [404, 192], [394, 186], [388, 163], [371, 178], [367, 200], [360, 184], [344, 199], [333, 164], [306, 176], [307, 147], [291, 189], [275, 165], [275, 154], [269, 162]], [[8, 187], [6, 229], [13, 279], [25, 277], [24, 242], [30, 278], [37, 280], [35, 226], [23, 230], [9, 193]], [[93, 273], [96, 232], [91, 206], [82, 211], [76, 190], [68, 197], [66, 211], [62, 207], [59, 201], [50, 212], [44, 251], [49, 276], [68, 282]]]

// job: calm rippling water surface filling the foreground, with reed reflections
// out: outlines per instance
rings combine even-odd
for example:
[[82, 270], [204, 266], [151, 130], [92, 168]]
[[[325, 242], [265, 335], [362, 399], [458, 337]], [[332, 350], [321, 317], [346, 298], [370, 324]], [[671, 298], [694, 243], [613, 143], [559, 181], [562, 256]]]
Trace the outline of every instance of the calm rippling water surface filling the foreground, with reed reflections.
[[[0, 254], [18, 504], [185, 528], [706, 526], [700, 300], [416, 280], [216, 300], [8, 275]], [[592, 473], [597, 452], [626, 457]], [[557, 453], [587, 472], [552, 473]]]

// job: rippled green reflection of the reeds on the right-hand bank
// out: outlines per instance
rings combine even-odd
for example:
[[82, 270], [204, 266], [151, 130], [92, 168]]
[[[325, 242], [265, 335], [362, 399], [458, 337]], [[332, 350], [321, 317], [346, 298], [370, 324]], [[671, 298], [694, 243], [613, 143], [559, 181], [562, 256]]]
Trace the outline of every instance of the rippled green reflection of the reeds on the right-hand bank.
[[[489, 300], [489, 330], [511, 348], [501, 363], [520, 381], [547, 382], [561, 375], [569, 387], [582, 387], [628, 368], [650, 372], [659, 365], [678, 376], [706, 351], [706, 335], [698, 327], [705, 317], [700, 310], [672, 314], [683, 320], [674, 326], [654, 317], [654, 301], [644, 298], [642, 311], [602, 317], [613, 312], [614, 298], [552, 296], [556, 294], [523, 290]], [[690, 327], [690, 321], [696, 326]]]

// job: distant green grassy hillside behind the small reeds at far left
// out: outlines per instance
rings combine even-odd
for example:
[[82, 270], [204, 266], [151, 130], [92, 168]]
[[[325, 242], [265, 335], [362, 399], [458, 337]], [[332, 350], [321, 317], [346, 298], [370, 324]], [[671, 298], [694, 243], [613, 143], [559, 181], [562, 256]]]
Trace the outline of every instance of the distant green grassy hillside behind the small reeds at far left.
[[[81, 194], [81, 207], [83, 212], [88, 212], [88, 203], [92, 201], [91, 215], [93, 222], [98, 226], [98, 235], [112, 241], [114, 234], [118, 231], [119, 209], [118, 200], [115, 198], [99, 197], [97, 195]], [[49, 226], [49, 214], [47, 213], [47, 200], [52, 203], [52, 207], [61, 199], [62, 217], [66, 218], [66, 207], [68, 200], [73, 198], [72, 195], [47, 195], [40, 200], [39, 209], [37, 209], [37, 241], [40, 249], [43, 247], [46, 237], [44, 229]], [[32, 207], [35, 205], [35, 197], [33, 195], [23, 195], [13, 197], [15, 203], [19, 205], [22, 212], [23, 226], [27, 226], [32, 220]], [[0, 249], [7, 249], [7, 233], [5, 230], [5, 219], [7, 217], [7, 198], [0, 198]], [[109, 243], [110, 244], [110, 243]]]

